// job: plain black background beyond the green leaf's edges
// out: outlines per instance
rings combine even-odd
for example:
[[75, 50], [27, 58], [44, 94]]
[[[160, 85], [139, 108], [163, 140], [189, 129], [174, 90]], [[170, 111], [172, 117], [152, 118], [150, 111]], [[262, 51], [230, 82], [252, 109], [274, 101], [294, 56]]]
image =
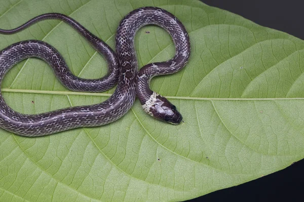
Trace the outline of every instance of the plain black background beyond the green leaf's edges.
[[[302, 0], [202, 0], [202, 2], [304, 40]], [[304, 160], [301, 160], [279, 172], [189, 201], [303, 201], [303, 188]]]

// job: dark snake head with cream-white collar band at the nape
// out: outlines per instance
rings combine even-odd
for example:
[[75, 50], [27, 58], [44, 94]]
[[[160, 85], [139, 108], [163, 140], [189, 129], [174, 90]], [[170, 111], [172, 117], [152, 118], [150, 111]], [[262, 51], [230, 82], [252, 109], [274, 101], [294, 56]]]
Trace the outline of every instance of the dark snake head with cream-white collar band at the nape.
[[143, 110], [149, 115], [161, 121], [171, 124], [180, 124], [182, 121], [181, 114], [176, 110], [176, 107], [162, 95], [153, 92], [150, 98], [142, 105]]

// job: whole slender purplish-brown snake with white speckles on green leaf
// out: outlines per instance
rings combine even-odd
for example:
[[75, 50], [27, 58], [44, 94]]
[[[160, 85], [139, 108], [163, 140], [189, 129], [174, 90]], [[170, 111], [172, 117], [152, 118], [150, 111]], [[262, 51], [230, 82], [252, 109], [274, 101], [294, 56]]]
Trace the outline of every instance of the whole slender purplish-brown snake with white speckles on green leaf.
[[[0, 127], [14, 134], [36, 137], [78, 127], [101, 126], [118, 120], [132, 107], [136, 96], [149, 115], [171, 124], [180, 124], [182, 115], [167, 98], [150, 89], [151, 78], [178, 72], [190, 56], [189, 36], [183, 24], [170, 12], [157, 7], [142, 7], [131, 11], [119, 23], [116, 32], [116, 52], [79, 22], [60, 13], [36, 16], [15, 29], [0, 29], [0, 34], [14, 34], [43, 20], [61, 20], [86, 38], [108, 63], [108, 73], [99, 79], [85, 79], [72, 74], [63, 57], [47, 42], [24, 40], [0, 52], [0, 83], [17, 63], [30, 57], [44, 60], [56, 77], [69, 90], [102, 92], [117, 84], [104, 102], [75, 106], [41, 114], [22, 114], [10, 108], [0, 91]], [[144, 25], [157, 25], [173, 39], [175, 55], [164, 62], [150, 63], [138, 71], [134, 37]]]

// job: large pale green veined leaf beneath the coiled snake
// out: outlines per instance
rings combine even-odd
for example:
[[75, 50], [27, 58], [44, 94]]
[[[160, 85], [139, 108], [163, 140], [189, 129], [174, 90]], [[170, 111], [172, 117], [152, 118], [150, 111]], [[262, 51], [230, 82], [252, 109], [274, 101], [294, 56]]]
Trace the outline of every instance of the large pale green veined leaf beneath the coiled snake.
[[[185, 200], [304, 157], [304, 43], [298, 38], [199, 1], [173, 0], [1, 0], [0, 27], [59, 12], [114, 47], [119, 21], [142, 6], [170, 11], [191, 38], [189, 64], [152, 81], [185, 123], [155, 120], [135, 102], [122, 119], [101, 127], [41, 138], [1, 130], [1, 201]], [[106, 72], [103, 58], [60, 21], [0, 35], [0, 48], [25, 39], [54, 45], [75, 75]], [[174, 54], [170, 36], [156, 26], [139, 30], [135, 46], [140, 67]], [[37, 59], [16, 65], [2, 90], [9, 106], [27, 114], [99, 103], [113, 92], [70, 92]]]

